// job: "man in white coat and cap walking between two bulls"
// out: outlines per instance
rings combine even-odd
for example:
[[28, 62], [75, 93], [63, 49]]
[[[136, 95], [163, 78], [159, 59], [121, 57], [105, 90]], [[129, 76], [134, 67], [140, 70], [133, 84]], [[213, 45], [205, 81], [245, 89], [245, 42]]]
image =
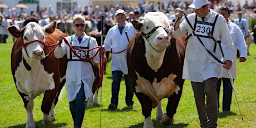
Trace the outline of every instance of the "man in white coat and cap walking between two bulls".
[[127, 107], [132, 108], [132, 105], [134, 104], [134, 101], [132, 101], [134, 91], [128, 76], [126, 48], [132, 36], [134, 36], [136, 29], [134, 29], [131, 23], [126, 21], [126, 13], [123, 9], [118, 9], [115, 12], [115, 18], [117, 24], [110, 28], [109, 32], [107, 32], [103, 45], [103, 51], [112, 50], [111, 72], [113, 81], [111, 88], [112, 97], [109, 110], [117, 109], [122, 74], [124, 74], [125, 77], [126, 105]]

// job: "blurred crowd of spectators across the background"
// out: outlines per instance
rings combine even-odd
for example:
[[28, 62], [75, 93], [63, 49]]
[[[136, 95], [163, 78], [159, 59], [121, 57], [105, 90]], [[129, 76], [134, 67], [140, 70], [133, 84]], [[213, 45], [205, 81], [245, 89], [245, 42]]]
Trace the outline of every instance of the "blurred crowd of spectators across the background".
[[[175, 13], [176, 8], [183, 9], [186, 14], [192, 13], [194, 10], [188, 8], [191, 2], [180, 2], [180, 1], [170, 1], [168, 4], [161, 3], [161, 2], [144, 2], [139, 3], [137, 6], [132, 5], [131, 3], [128, 6], [120, 3], [117, 5], [110, 5], [104, 4], [103, 7], [98, 5], [96, 6], [88, 6], [88, 5], [79, 5], [77, 8], [73, 9], [71, 13], [67, 13], [65, 9], [57, 10], [56, 14], [53, 15], [54, 8], [49, 5], [48, 7], [40, 7], [37, 11], [31, 12], [31, 14], [27, 14], [26, 12], [22, 11], [19, 12], [16, 8], [8, 8], [8, 11], [4, 12], [4, 9], [1, 8], [0, 12], [0, 33], [4, 33], [6, 26], [12, 25], [14, 22], [18, 21], [36, 21], [38, 22], [42, 19], [43, 22], [41, 26], [48, 24], [53, 20], [58, 21], [65, 21], [67, 19], [72, 19], [73, 15], [75, 14], [82, 14], [86, 20], [91, 21], [93, 24], [93, 29], [95, 31], [101, 31], [101, 15], [104, 15], [104, 23], [111, 23], [115, 25], [115, 11], [117, 9], [124, 9], [127, 16], [127, 21], [130, 22], [131, 19], [143, 19], [143, 16], [147, 12], [151, 11], [161, 11], [166, 14], [166, 16], [170, 17], [171, 14]], [[242, 12], [243, 18], [247, 19], [248, 24], [252, 21], [253, 18], [256, 18], [256, 1], [253, 0], [252, 3], [248, 3], [247, 1], [242, 5], [239, 1], [231, 1], [231, 0], [220, 0], [220, 1], [209, 1], [209, 7], [212, 8], [214, 11], [219, 12], [220, 7], [228, 6], [232, 14], [230, 16], [230, 20], [234, 20], [237, 18], [237, 13]], [[2, 22], [5, 18], [11, 19], [6, 26], [2, 25]], [[255, 22], [256, 23], [256, 22]], [[253, 23], [249, 26], [250, 32], [253, 31]], [[17, 24], [17, 23], [16, 23]], [[23, 27], [23, 24], [19, 24], [18, 27]], [[0, 42], [3, 42], [3, 35], [0, 35]]]

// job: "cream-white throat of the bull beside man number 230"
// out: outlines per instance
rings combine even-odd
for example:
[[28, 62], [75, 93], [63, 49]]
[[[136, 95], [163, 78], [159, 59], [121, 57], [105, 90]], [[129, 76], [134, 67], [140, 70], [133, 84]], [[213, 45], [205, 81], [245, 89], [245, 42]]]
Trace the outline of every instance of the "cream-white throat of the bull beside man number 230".
[[161, 52], [156, 52], [155, 50], [152, 49], [152, 47], [149, 46], [149, 43], [145, 43], [145, 47], [146, 47], [145, 57], [147, 60], [147, 64], [152, 70], [157, 72], [157, 70], [163, 64], [166, 50]]

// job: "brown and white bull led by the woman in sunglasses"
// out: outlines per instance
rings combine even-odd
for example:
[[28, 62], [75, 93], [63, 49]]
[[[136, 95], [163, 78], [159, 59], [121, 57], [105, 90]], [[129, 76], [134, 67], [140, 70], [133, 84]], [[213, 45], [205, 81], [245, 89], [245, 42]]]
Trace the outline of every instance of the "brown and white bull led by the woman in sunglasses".
[[[53, 53], [45, 56], [57, 42], [57, 37], [65, 33], [56, 28], [56, 21], [45, 27], [30, 22], [22, 29], [8, 27], [8, 32], [18, 38], [12, 48], [11, 68], [13, 80], [22, 97], [27, 111], [26, 127], [36, 127], [33, 119], [33, 100], [44, 93], [41, 110], [43, 124], [51, 124], [55, 120], [53, 110], [58, 96], [65, 84], [67, 57], [55, 58]], [[67, 35], [66, 35], [67, 36]]]

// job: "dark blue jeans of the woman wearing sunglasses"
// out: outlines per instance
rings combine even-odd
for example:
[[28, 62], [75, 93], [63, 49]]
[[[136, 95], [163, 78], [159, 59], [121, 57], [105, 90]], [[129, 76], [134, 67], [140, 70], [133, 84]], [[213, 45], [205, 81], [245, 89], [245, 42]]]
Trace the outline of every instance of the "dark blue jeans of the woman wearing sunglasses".
[[70, 111], [73, 118], [73, 121], [77, 127], [82, 126], [83, 116], [85, 116], [85, 90], [83, 89], [84, 84], [76, 95], [76, 100], [73, 100], [70, 103]]

